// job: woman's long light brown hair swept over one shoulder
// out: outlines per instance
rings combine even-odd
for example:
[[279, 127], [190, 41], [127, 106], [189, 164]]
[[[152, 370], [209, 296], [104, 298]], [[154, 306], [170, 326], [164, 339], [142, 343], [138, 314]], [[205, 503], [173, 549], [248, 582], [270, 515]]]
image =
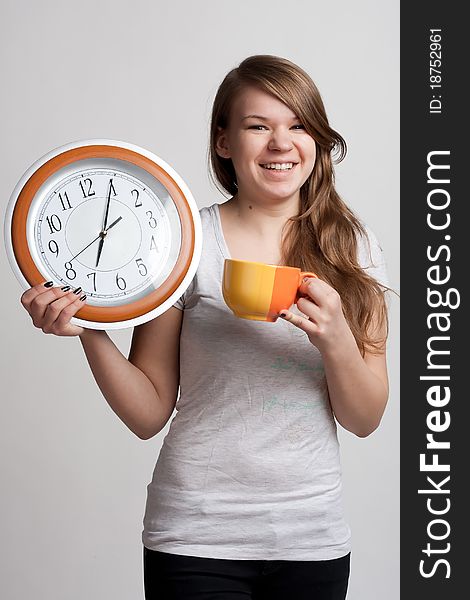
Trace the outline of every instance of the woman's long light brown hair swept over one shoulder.
[[[287, 59], [257, 55], [226, 75], [212, 108], [208, 156], [212, 179], [222, 193], [237, 193], [232, 160], [217, 154], [216, 143], [219, 128], [228, 126], [235, 98], [253, 86], [295, 112], [317, 146], [313, 171], [300, 188], [299, 214], [287, 221], [283, 232], [282, 264], [314, 271], [335, 288], [361, 353], [378, 352], [388, 332], [384, 291], [389, 288], [358, 263], [358, 237], [367, 239], [367, 233], [334, 187], [333, 157], [335, 162], [345, 157], [346, 142], [330, 127], [320, 92], [305, 71]], [[379, 335], [380, 331], [385, 334]]]

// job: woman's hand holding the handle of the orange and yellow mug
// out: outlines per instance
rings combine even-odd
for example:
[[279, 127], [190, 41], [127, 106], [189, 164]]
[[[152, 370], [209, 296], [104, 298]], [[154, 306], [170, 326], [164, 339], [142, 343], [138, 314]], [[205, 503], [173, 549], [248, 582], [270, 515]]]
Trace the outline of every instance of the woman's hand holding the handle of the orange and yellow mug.
[[302, 282], [299, 293], [308, 295], [307, 298], [299, 298], [296, 303], [306, 317], [287, 309], [282, 310], [280, 315], [285, 315], [283, 318], [286, 321], [305, 331], [310, 342], [320, 351], [334, 347], [345, 336], [352, 336], [340, 295], [331, 285], [322, 279], [309, 277]]

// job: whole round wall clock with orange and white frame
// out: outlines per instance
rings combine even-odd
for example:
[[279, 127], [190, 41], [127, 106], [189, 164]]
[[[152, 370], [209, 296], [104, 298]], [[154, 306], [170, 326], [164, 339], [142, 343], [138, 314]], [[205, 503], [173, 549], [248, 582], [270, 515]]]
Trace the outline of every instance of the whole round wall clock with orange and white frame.
[[92, 139], [57, 148], [15, 187], [5, 216], [11, 267], [27, 289], [81, 287], [72, 323], [122, 329], [149, 321], [184, 293], [202, 228], [182, 178], [155, 154]]

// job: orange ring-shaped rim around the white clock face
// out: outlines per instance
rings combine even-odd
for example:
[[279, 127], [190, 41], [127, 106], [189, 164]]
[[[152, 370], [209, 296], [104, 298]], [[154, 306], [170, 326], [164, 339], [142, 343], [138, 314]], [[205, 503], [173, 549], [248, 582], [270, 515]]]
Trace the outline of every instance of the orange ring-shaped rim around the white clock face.
[[171, 175], [150, 158], [128, 148], [96, 144], [66, 150], [49, 159], [31, 175], [18, 194], [11, 222], [11, 241], [15, 259], [23, 276], [31, 286], [44, 281], [44, 277], [31, 256], [27, 240], [26, 225], [31, 203], [39, 188], [51, 175], [70, 163], [87, 158], [115, 158], [144, 169], [165, 186], [179, 214], [182, 230], [180, 252], [175, 267], [160, 287], [145, 298], [139, 298], [129, 304], [109, 307], [85, 305], [75, 315], [84, 321], [101, 323], [134, 319], [163, 304], [176, 291], [190, 268], [195, 245], [192, 212], [184, 193]]

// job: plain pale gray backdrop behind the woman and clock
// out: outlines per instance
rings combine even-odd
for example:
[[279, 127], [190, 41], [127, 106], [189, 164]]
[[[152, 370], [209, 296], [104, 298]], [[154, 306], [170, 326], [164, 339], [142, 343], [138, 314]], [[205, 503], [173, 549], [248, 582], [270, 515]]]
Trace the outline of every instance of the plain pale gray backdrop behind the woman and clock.
[[[23, 172], [56, 146], [112, 138], [148, 148], [200, 207], [212, 100], [250, 54], [316, 81], [349, 153], [337, 187], [399, 267], [399, 2], [1, 0], [2, 217]], [[9, 600], [143, 597], [146, 485], [168, 426], [143, 442], [101, 396], [76, 338], [36, 330], [0, 253], [0, 581]], [[349, 600], [399, 597], [398, 300], [391, 393], [367, 439], [340, 431], [353, 531]], [[112, 338], [127, 352], [131, 330]]]

